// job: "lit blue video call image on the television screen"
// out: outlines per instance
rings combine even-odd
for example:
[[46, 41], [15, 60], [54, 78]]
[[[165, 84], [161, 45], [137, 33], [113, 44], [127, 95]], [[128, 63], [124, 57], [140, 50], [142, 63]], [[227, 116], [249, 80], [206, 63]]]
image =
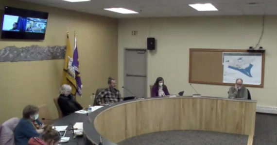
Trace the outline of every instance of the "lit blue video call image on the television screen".
[[45, 33], [47, 19], [4, 14], [4, 31]]

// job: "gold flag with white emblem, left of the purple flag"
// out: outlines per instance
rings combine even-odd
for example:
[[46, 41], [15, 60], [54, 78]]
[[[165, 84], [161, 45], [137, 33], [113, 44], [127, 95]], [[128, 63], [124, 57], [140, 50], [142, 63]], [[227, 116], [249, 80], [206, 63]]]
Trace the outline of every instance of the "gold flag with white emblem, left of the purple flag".
[[71, 93], [76, 94], [75, 69], [73, 67], [73, 55], [69, 43], [69, 34], [67, 34], [67, 47], [65, 55], [65, 65], [63, 69], [62, 85], [68, 84], [72, 87]]

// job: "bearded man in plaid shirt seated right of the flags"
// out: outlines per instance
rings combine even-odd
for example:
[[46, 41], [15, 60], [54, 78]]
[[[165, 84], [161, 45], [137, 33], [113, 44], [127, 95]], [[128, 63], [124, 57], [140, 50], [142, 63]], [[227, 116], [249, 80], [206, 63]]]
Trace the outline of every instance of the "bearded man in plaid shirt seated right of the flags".
[[[97, 104], [105, 105], [109, 103], [121, 102], [122, 98], [120, 96], [120, 92], [116, 89], [116, 81], [115, 79], [109, 77], [108, 78], [108, 88], [105, 88], [96, 96]], [[104, 100], [104, 102], [102, 102]]]

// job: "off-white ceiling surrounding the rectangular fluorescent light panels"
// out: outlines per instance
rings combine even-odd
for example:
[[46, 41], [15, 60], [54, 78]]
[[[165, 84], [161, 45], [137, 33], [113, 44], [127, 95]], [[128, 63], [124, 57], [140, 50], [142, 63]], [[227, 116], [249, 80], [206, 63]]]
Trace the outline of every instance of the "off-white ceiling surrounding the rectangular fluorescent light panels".
[[[67, 2], [63, 0], [21, 0], [39, 3], [90, 14], [115, 18], [166, 17], [194, 15], [277, 15], [277, 0], [91, 0], [88, 2]], [[249, 5], [249, 2], [257, 2]], [[198, 12], [188, 4], [212, 3], [219, 11]], [[140, 14], [117, 14], [104, 8], [123, 7]], [[140, 12], [141, 11], [141, 12]]]

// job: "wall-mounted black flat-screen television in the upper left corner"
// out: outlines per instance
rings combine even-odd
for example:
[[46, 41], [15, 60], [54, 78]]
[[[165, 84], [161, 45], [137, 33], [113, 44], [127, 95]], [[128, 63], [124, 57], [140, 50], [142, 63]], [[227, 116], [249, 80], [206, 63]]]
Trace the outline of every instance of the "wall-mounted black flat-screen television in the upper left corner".
[[48, 13], [5, 6], [1, 38], [43, 40]]

